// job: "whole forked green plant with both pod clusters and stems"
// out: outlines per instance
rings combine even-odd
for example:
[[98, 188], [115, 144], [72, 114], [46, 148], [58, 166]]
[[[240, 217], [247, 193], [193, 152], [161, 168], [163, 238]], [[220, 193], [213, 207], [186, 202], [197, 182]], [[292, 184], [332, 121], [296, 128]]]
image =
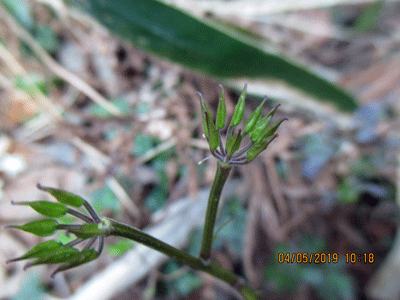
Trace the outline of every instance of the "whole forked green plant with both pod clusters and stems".
[[[39, 214], [46, 216], [47, 219], [29, 222], [24, 225], [9, 225], [6, 228], [20, 229], [41, 237], [50, 236], [58, 230], [65, 230], [68, 234], [75, 235], [76, 239], [66, 244], [62, 244], [56, 240], [42, 242], [21, 257], [8, 260], [7, 263], [19, 260], [31, 260], [25, 265], [24, 269], [40, 264], [57, 264], [57, 269], [51, 275], [51, 277], [54, 277], [58, 272], [75, 268], [98, 258], [103, 250], [105, 237], [120, 236], [144, 244], [179, 260], [193, 269], [204, 271], [225, 281], [237, 289], [244, 299], [257, 299], [257, 293], [246, 284], [244, 279], [211, 260], [215, 219], [221, 192], [232, 167], [248, 164], [253, 161], [278, 136], [275, 132], [287, 118], [270, 124], [279, 105], [273, 108], [265, 117], [262, 117], [262, 107], [266, 101], [265, 98], [250, 115], [244, 124], [244, 129], [236, 130], [236, 127], [242, 122], [245, 112], [247, 85], [245, 85], [239, 97], [229, 125], [226, 125], [224, 90], [222, 86], [220, 87], [221, 93], [215, 122], [202, 94], [198, 93], [202, 108], [204, 136], [207, 139], [212, 156], [218, 160], [217, 171], [208, 199], [201, 250], [198, 257], [189, 255], [132, 226], [110, 218], [100, 218], [91, 205], [77, 195], [55, 188], [43, 187], [38, 184], [39, 189], [50, 193], [58, 202], [33, 201], [12, 203], [15, 205], [28, 205]], [[226, 136], [222, 136], [226, 127]], [[244, 139], [248, 140], [248, 142], [241, 148]], [[82, 206], [86, 209], [87, 214], [77, 210], [77, 208]], [[59, 223], [57, 218], [66, 214], [80, 219], [83, 223]], [[86, 243], [82, 250], [74, 248], [74, 246], [80, 243]]]

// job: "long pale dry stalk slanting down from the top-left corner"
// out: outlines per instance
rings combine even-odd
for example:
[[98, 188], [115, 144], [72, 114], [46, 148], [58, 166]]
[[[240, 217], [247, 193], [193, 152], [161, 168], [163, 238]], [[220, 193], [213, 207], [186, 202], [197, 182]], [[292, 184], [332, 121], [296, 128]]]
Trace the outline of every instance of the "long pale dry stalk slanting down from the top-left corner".
[[15, 32], [15, 34], [17, 34], [26, 44], [29, 45], [32, 51], [35, 52], [35, 54], [37, 54], [41, 58], [43, 63], [52, 72], [54, 72], [57, 76], [64, 79], [66, 82], [69, 82], [71, 85], [80, 90], [82, 93], [84, 93], [98, 105], [102, 106], [105, 110], [107, 110], [111, 114], [115, 116], [122, 115], [121, 111], [116, 106], [109, 103], [106, 98], [100, 95], [84, 80], [82, 80], [74, 73], [68, 71], [67, 69], [59, 65], [45, 50], [43, 50], [43, 48], [35, 41], [35, 39], [24, 28], [22, 28], [20, 25], [18, 25], [16, 21], [14, 21], [12, 16], [10, 16], [10, 14], [6, 12], [6, 10], [3, 7], [1, 8], [3, 15], [6, 16], [7, 21], [10, 24], [13, 31]]

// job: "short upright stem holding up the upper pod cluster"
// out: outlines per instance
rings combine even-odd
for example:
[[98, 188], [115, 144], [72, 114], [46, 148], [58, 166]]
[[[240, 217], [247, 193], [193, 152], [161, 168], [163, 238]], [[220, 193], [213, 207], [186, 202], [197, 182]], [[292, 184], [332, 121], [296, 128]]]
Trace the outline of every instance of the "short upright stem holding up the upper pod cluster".
[[203, 238], [201, 241], [201, 250], [199, 254], [199, 256], [204, 261], [208, 261], [210, 259], [219, 198], [221, 197], [222, 189], [226, 180], [228, 179], [231, 169], [232, 167], [230, 167], [229, 165], [222, 166], [222, 164], [218, 162], [217, 172], [215, 174], [214, 182], [210, 191], [210, 196], [208, 198]]

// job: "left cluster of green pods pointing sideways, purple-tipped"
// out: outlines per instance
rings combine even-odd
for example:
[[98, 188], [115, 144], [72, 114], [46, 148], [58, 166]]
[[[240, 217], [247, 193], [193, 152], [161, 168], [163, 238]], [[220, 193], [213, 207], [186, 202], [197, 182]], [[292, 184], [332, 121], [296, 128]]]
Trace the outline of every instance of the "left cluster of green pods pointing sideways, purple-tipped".
[[[40, 264], [60, 264], [52, 273], [51, 277], [60, 271], [68, 270], [79, 265], [85, 264], [99, 257], [103, 250], [104, 237], [109, 234], [110, 223], [107, 219], [100, 219], [90, 204], [83, 198], [58, 189], [42, 187], [38, 188], [50, 193], [57, 202], [50, 201], [31, 201], [31, 202], [12, 202], [14, 205], [28, 205], [41, 215], [49, 217], [48, 219], [29, 222], [24, 225], [9, 225], [7, 228], [16, 228], [33, 233], [37, 236], [50, 236], [57, 230], [66, 230], [67, 233], [73, 233], [76, 239], [62, 244], [56, 240], [49, 240], [40, 243], [29, 250], [21, 257], [10, 259], [7, 263], [33, 259], [32, 262], [25, 265], [24, 270]], [[71, 208], [85, 207], [89, 215]], [[83, 224], [60, 224], [55, 220], [65, 214], [70, 214], [82, 220]], [[81, 251], [74, 246], [87, 241]], [[98, 241], [97, 249], [93, 245]]]

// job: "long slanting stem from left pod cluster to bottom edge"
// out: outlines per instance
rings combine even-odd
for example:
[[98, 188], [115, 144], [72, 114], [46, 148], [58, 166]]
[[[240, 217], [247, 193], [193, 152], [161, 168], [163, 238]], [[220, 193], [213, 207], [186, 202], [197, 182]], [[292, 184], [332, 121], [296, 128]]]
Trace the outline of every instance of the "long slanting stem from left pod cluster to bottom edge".
[[216, 278], [225, 281], [229, 285], [235, 287], [245, 299], [258, 299], [254, 291], [252, 291], [244, 283], [244, 280], [241, 277], [222, 268], [217, 263], [210, 262], [208, 264], [204, 264], [204, 261], [201, 258], [194, 257], [179, 249], [176, 249], [136, 228], [120, 223], [113, 219], [108, 220], [110, 221], [109, 235], [120, 236], [141, 243], [147, 247], [168, 255], [169, 257], [173, 257], [193, 269], [206, 272]]

